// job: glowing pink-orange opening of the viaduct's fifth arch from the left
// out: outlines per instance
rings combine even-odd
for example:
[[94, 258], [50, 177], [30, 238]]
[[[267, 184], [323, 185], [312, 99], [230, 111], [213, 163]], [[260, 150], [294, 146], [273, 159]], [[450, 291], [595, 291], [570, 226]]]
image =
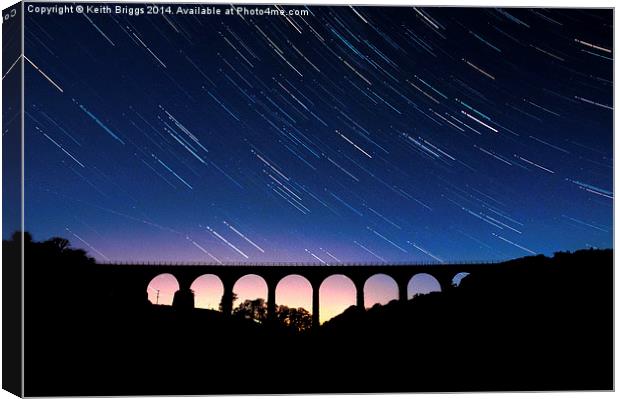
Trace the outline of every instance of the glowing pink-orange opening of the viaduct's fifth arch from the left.
[[320, 322], [324, 323], [356, 304], [357, 289], [350, 277], [333, 274], [321, 283], [319, 296], [321, 298]]

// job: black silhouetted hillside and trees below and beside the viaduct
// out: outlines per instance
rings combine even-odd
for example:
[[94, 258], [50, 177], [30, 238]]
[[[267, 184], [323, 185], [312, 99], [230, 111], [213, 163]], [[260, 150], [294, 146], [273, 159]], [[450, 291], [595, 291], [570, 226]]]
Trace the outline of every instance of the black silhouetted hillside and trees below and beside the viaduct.
[[[3, 250], [18, 259], [16, 239]], [[303, 309], [268, 322], [264, 300], [231, 316], [119, 300], [94, 265], [26, 233], [26, 395], [613, 389], [612, 250], [509, 261], [312, 330]]]

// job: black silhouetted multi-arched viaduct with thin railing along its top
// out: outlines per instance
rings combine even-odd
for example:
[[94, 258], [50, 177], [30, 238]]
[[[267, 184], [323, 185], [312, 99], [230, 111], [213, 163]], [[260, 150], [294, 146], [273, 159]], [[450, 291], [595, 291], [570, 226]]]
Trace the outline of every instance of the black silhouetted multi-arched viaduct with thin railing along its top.
[[[105, 263], [97, 268], [113, 285], [123, 286], [126, 290], [145, 293], [150, 281], [160, 274], [171, 274], [179, 283], [175, 297], [192, 297], [190, 287], [194, 280], [205, 274], [217, 276], [222, 282], [222, 311], [230, 314], [233, 307], [233, 287], [242, 277], [257, 275], [267, 284], [267, 314], [275, 315], [276, 287], [285, 277], [299, 275], [304, 277], [312, 287], [312, 322], [319, 325], [319, 290], [323, 281], [333, 275], [348, 277], [356, 289], [356, 305], [364, 309], [364, 285], [377, 274], [391, 277], [398, 286], [399, 300], [407, 300], [407, 286], [413, 276], [426, 273], [433, 276], [441, 290], [452, 286], [454, 277], [459, 273], [487, 273], [503, 268], [501, 263], [454, 263], [454, 264], [166, 264], [166, 263]], [[188, 295], [189, 294], [189, 295]], [[193, 306], [193, 305], [191, 305]]]

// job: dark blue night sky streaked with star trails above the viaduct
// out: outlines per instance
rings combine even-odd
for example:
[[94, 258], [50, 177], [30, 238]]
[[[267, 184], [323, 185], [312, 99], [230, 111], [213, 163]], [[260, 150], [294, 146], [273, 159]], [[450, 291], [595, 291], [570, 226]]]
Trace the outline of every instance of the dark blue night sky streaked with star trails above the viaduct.
[[612, 246], [611, 10], [177, 7], [26, 13], [35, 239], [224, 263]]

